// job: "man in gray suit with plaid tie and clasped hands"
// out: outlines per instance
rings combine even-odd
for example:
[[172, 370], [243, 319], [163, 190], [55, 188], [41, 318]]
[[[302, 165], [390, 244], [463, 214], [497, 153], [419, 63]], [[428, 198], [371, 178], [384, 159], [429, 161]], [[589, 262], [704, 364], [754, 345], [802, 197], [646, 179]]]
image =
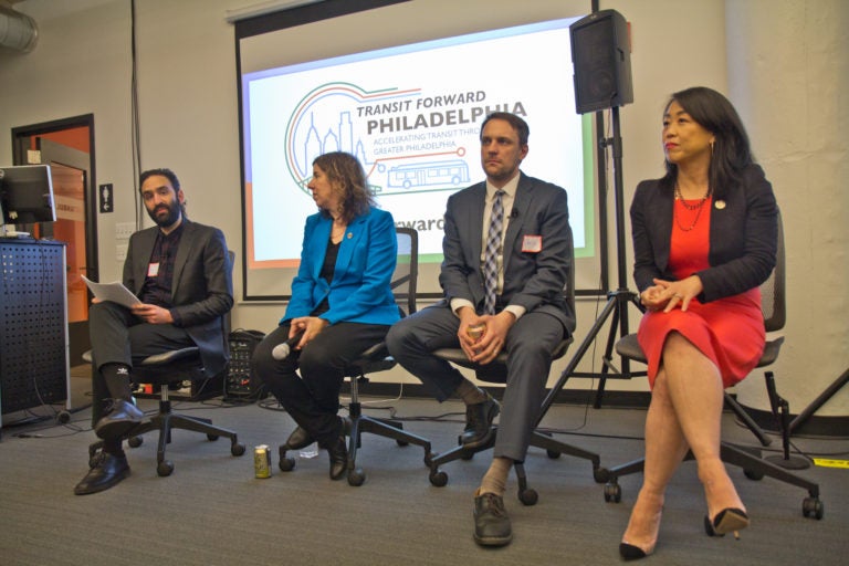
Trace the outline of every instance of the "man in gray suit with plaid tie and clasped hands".
[[[575, 313], [565, 294], [574, 259], [566, 191], [520, 171], [527, 137], [527, 124], [518, 116], [493, 113], [484, 119], [481, 165], [486, 181], [448, 200], [440, 273], [444, 298], [401, 319], [387, 336], [389, 353], [431, 387], [438, 400], [451, 395], [463, 400], [467, 426], [461, 441], [469, 448], [491, 440], [492, 421], [501, 409], [432, 352], [459, 345], [470, 360], [484, 367], [501, 350], [507, 353], [493, 461], [474, 497], [474, 539], [485, 546], [512, 539], [503, 501], [507, 475], [527, 452], [552, 353], [575, 329]], [[493, 208], [502, 213], [493, 214]], [[493, 229], [495, 304], [488, 308], [484, 272], [492, 216], [502, 220]], [[480, 326], [485, 327], [481, 337], [470, 334], [470, 328]]]

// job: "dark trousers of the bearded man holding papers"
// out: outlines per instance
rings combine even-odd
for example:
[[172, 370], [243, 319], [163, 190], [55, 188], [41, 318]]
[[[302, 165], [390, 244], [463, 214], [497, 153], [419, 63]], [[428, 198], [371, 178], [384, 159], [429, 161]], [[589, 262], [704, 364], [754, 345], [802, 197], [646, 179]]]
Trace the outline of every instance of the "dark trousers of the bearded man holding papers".
[[[126, 387], [107, 384], [101, 368], [106, 364], [133, 367], [154, 354], [193, 346], [185, 329], [171, 324], [148, 324], [113, 302], [95, 303], [88, 310], [92, 339], [92, 422], [103, 417], [105, 401], [124, 397]], [[129, 379], [129, 378], [127, 378]]]

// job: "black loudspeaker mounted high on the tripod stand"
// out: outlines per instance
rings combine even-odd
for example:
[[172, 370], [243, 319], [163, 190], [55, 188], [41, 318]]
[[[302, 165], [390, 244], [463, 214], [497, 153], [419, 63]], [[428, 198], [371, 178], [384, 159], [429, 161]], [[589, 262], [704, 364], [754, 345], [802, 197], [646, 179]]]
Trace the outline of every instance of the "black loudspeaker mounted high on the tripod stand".
[[569, 25], [578, 114], [633, 102], [628, 23], [616, 10], [591, 13]]

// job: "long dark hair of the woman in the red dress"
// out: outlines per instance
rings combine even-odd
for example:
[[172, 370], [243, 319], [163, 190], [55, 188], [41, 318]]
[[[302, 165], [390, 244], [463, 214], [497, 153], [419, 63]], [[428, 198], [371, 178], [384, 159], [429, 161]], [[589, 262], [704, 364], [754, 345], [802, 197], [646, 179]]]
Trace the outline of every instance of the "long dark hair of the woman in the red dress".
[[[754, 163], [743, 120], [725, 96], [706, 86], [693, 86], [673, 93], [663, 114], [673, 102], [680, 104], [696, 124], [713, 134], [708, 180], [713, 195], [724, 197], [729, 189], [740, 184], [743, 169]], [[663, 185], [671, 190], [678, 178], [678, 166], [665, 160], [665, 168]]]

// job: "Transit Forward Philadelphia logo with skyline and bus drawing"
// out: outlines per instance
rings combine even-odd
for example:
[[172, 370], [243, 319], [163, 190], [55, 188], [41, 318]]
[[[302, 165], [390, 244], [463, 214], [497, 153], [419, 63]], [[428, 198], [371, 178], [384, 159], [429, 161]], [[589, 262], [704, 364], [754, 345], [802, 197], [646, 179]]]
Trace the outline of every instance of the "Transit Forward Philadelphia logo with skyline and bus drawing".
[[368, 93], [354, 84], [322, 85], [293, 113], [289, 174], [307, 191], [315, 156], [342, 150], [359, 159], [378, 196], [455, 190], [478, 167], [476, 122], [494, 111], [525, 114], [521, 102], [486, 102], [483, 91], [427, 96], [421, 88]]

